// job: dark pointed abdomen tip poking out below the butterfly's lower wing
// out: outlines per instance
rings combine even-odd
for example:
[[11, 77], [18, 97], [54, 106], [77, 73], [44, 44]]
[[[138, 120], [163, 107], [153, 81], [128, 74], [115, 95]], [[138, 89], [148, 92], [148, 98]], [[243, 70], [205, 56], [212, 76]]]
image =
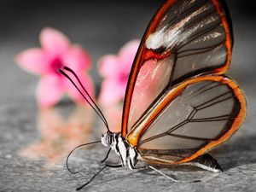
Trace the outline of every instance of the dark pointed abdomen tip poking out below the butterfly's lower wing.
[[203, 154], [197, 157], [195, 160], [187, 163], [187, 165], [198, 166], [211, 172], [223, 172], [222, 168], [218, 165], [218, 161], [215, 160], [210, 154]]

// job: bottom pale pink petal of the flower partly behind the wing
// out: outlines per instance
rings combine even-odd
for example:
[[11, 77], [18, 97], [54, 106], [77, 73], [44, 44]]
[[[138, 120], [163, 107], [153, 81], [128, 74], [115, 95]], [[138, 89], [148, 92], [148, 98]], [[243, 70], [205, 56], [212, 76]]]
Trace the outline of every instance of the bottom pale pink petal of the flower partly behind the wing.
[[105, 80], [102, 83], [102, 90], [99, 96], [99, 102], [102, 105], [110, 105], [119, 102], [125, 96], [125, 89], [119, 87], [112, 80]]

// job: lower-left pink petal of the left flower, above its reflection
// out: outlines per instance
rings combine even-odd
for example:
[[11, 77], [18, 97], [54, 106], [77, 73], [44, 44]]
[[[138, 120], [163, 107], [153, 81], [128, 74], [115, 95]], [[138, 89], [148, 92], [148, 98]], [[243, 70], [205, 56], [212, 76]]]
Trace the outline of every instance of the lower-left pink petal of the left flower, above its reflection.
[[48, 108], [59, 102], [64, 91], [64, 84], [60, 77], [47, 75], [38, 84], [38, 105]]

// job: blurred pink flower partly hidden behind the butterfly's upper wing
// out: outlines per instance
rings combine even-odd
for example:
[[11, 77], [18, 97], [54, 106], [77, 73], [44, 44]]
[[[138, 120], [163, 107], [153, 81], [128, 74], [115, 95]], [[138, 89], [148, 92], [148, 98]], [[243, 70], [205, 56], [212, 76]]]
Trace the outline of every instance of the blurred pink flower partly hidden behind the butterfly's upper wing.
[[120, 102], [125, 97], [126, 84], [132, 62], [139, 46], [138, 40], [125, 44], [118, 55], [105, 55], [99, 62], [99, 73], [103, 77], [99, 102], [110, 105]]

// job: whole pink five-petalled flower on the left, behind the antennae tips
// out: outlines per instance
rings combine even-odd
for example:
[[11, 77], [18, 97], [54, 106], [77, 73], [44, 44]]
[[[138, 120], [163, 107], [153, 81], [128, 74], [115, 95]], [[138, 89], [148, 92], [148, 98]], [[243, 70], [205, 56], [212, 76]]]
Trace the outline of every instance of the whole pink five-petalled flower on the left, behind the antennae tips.
[[75, 90], [58, 69], [67, 66], [78, 73], [85, 88], [93, 95], [94, 87], [89, 75], [90, 57], [78, 44], [70, 44], [68, 38], [52, 28], [44, 28], [40, 33], [42, 48], [26, 49], [16, 57], [17, 63], [30, 73], [40, 75], [38, 84], [38, 104], [49, 107], [59, 102], [67, 93], [75, 102], [84, 102], [79, 91]]

